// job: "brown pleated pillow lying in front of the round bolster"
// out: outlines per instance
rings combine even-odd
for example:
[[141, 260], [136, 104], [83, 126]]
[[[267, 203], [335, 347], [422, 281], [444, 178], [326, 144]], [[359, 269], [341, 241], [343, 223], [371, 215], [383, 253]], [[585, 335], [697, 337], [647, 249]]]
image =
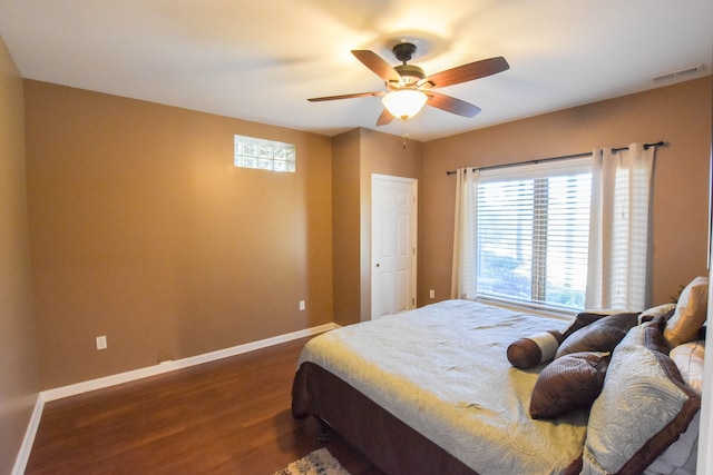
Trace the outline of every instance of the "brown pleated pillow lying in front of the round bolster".
[[609, 353], [573, 353], [555, 359], [537, 377], [530, 399], [535, 419], [592, 406], [604, 385]]

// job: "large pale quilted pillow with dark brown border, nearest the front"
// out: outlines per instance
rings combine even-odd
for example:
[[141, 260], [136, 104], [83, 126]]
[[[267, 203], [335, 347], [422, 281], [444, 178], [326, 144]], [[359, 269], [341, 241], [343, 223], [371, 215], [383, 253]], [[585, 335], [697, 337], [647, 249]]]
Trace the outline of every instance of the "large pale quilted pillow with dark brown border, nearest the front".
[[643, 473], [701, 407], [673, 360], [638, 343], [644, 331], [634, 327], [612, 354], [589, 412], [583, 474]]

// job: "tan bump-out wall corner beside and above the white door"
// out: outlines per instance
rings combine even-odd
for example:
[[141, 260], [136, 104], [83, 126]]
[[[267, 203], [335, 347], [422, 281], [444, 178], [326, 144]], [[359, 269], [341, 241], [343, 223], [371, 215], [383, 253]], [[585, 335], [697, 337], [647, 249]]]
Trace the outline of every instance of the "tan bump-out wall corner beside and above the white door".
[[371, 318], [371, 176], [421, 176], [423, 145], [368, 129], [333, 138], [334, 321]]

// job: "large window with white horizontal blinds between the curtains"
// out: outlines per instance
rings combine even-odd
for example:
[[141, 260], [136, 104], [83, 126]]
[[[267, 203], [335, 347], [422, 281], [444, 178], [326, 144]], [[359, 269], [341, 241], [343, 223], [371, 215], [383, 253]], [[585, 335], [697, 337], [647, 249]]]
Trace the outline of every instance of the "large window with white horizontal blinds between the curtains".
[[584, 308], [590, 159], [482, 170], [476, 195], [478, 297]]

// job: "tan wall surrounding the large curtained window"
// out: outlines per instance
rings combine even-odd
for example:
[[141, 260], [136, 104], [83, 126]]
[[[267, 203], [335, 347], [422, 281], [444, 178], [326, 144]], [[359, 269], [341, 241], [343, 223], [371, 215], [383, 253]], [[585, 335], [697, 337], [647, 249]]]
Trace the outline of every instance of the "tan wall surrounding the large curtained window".
[[419, 303], [450, 295], [455, 177], [447, 170], [665, 140], [654, 179], [653, 303], [707, 275], [711, 78], [490, 127], [424, 145]]

